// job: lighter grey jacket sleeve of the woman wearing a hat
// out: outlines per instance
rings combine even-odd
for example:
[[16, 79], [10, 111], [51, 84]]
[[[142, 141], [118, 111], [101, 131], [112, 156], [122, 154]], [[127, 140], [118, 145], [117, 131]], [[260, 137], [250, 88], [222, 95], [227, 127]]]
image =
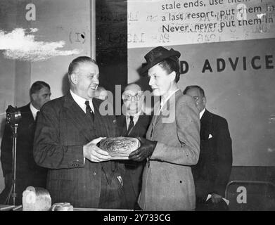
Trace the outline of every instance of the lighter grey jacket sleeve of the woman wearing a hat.
[[180, 147], [158, 141], [151, 159], [179, 165], [196, 165], [200, 154], [200, 119], [192, 98], [180, 99], [176, 105], [177, 138]]

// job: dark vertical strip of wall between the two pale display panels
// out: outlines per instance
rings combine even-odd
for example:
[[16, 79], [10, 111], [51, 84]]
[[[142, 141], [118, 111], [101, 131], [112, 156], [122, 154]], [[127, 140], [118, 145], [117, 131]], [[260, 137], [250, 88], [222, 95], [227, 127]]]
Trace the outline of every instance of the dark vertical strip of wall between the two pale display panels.
[[127, 84], [127, 1], [96, 0], [96, 61], [100, 85], [115, 95]]

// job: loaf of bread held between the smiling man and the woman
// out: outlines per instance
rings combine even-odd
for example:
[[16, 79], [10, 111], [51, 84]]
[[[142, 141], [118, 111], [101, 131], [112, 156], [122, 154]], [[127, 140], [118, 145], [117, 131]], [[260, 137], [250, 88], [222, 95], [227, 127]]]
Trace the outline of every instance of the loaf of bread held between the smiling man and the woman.
[[99, 144], [99, 148], [107, 151], [110, 155], [129, 155], [139, 146], [139, 139], [123, 136], [102, 139]]

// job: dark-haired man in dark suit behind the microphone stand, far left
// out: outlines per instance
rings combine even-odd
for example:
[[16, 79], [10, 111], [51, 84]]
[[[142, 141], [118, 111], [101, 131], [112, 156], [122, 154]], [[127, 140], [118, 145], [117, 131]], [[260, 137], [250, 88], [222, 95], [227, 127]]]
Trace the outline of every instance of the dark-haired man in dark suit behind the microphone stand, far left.
[[[51, 89], [45, 82], [34, 82], [30, 88], [30, 103], [18, 108], [22, 118], [18, 122], [16, 150], [15, 204], [22, 204], [22, 193], [27, 186], [46, 187], [46, 169], [37, 166], [32, 154], [34, 140], [34, 120], [44, 103], [50, 101]], [[1, 193], [0, 203], [4, 204], [11, 191], [13, 172], [13, 131], [6, 124], [1, 142], [1, 165], [5, 177], [5, 189]], [[11, 199], [8, 204], [11, 204]], [[7, 202], [6, 202], [7, 203]]]

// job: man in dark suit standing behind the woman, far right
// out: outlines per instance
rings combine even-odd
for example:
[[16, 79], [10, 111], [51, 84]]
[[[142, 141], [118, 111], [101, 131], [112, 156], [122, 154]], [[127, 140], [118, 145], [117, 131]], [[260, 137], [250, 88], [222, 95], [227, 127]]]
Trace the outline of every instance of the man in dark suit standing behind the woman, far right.
[[[232, 143], [227, 121], [205, 109], [205, 92], [200, 86], [184, 90], [196, 102], [200, 112], [200, 158], [192, 167], [196, 187], [196, 210], [223, 210], [221, 205], [232, 167]], [[211, 195], [212, 203], [206, 203]]]

